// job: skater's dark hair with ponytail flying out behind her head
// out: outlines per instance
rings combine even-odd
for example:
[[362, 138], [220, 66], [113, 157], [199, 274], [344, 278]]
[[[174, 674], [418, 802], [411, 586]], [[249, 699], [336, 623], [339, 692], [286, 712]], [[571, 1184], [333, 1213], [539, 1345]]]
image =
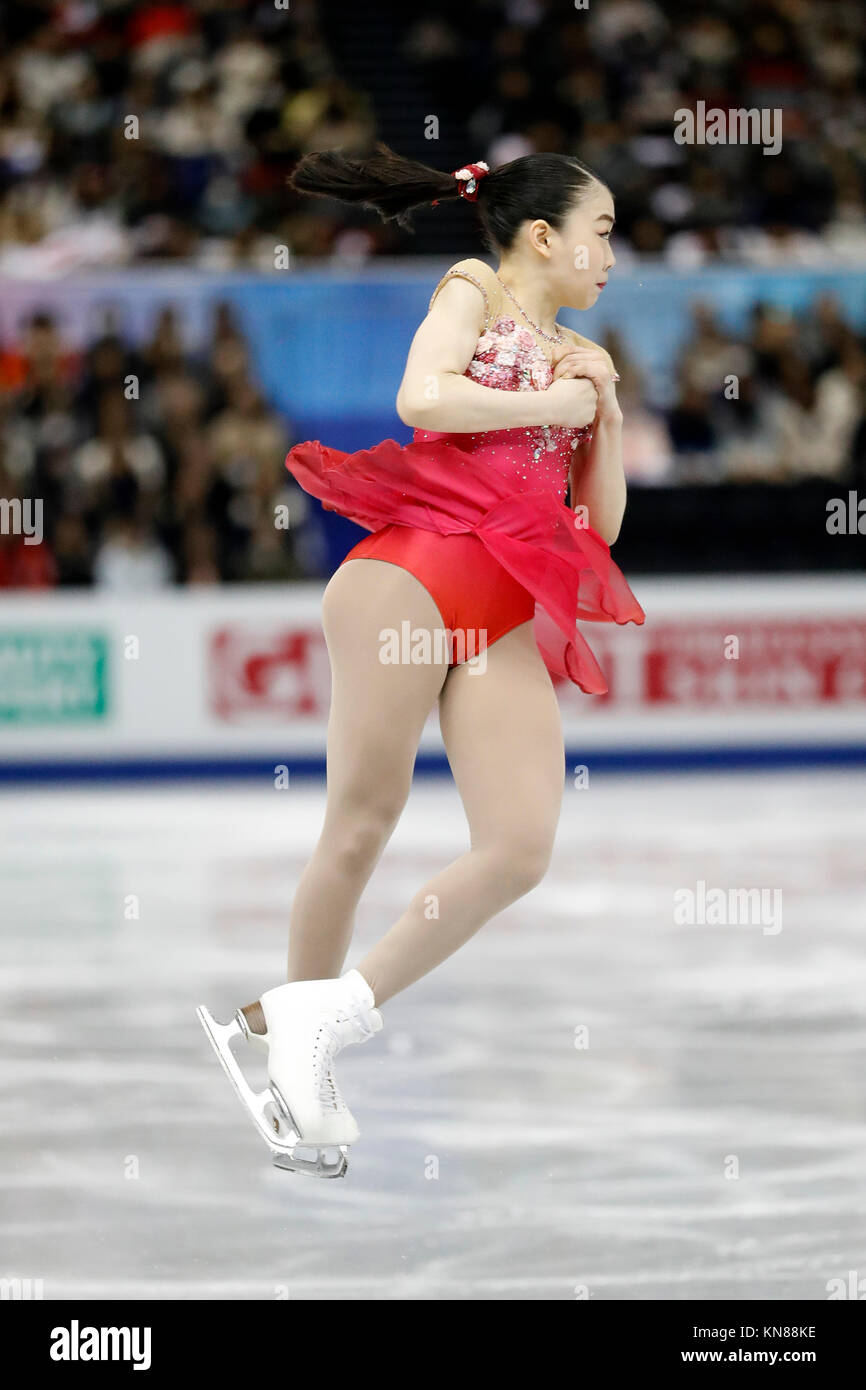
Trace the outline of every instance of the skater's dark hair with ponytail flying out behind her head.
[[[468, 163], [474, 163], [474, 158]], [[297, 193], [336, 197], [373, 207], [384, 221], [396, 220], [411, 231], [410, 211], [434, 200], [460, 197], [453, 174], [396, 154], [381, 140], [375, 153], [343, 154], [316, 150], [304, 154], [288, 178]], [[521, 222], [544, 217], [562, 227], [567, 214], [601, 181], [569, 154], [521, 154], [478, 181], [475, 208], [488, 250], [506, 252]]]

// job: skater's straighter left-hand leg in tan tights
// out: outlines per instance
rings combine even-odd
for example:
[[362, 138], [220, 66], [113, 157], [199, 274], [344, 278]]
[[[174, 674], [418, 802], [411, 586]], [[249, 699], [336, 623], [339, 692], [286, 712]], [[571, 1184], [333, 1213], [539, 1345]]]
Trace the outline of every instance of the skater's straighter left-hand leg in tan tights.
[[[318, 844], [292, 902], [289, 980], [341, 973], [354, 909], [409, 796], [421, 730], [448, 674], [438, 660], [388, 664], [382, 628], [442, 631], [436, 605], [414, 574], [385, 560], [348, 560], [322, 596], [331, 659], [327, 805]], [[259, 1004], [245, 1008], [264, 1033]]]

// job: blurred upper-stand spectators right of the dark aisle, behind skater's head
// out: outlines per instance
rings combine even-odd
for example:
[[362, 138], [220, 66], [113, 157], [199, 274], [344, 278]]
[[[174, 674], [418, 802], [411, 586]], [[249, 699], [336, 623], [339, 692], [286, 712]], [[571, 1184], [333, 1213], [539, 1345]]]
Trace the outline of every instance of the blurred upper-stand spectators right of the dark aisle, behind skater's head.
[[[865, 6], [603, 0], [569, 14], [556, 3], [505, 0], [491, 8], [512, 22], [491, 28], [489, 68], [470, 83], [484, 92], [468, 103], [470, 143], [493, 164], [535, 149], [582, 158], [614, 193], [620, 264], [866, 260]], [[677, 143], [677, 113], [698, 103], [780, 110], [780, 152]]]

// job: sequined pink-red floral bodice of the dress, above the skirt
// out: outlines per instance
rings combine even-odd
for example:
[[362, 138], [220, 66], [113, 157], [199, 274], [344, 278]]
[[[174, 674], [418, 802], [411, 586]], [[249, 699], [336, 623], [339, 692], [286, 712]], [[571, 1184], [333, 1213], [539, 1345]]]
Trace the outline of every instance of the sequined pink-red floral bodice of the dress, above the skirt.
[[[495, 391], [546, 391], [553, 368], [532, 334], [507, 314], [500, 314], [478, 339], [464, 377]], [[550, 488], [564, 499], [571, 450], [592, 435], [564, 425], [525, 425], [484, 430], [477, 434], [445, 434], [416, 430], [413, 442], [449, 439], [480, 466], [495, 468], [514, 484], [517, 492]]]

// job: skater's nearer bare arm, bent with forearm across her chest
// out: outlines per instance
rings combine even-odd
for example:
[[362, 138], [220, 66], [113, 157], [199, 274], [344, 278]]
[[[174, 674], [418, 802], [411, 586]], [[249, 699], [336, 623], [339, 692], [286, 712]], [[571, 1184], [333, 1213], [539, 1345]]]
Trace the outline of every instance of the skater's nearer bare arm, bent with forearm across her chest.
[[443, 434], [589, 424], [596, 393], [587, 379], [563, 378], [548, 391], [496, 391], [464, 377], [482, 324], [478, 289], [460, 277], [446, 281], [409, 349], [396, 399], [403, 424]]

